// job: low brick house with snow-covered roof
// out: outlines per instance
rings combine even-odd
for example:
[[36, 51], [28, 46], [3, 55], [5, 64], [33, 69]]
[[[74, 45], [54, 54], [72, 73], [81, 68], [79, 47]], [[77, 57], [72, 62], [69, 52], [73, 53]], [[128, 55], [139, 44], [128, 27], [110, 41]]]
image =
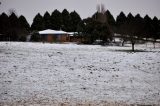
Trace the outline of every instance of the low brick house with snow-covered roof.
[[67, 32], [57, 30], [43, 30], [39, 31], [39, 35], [44, 42], [69, 42], [70, 36]]

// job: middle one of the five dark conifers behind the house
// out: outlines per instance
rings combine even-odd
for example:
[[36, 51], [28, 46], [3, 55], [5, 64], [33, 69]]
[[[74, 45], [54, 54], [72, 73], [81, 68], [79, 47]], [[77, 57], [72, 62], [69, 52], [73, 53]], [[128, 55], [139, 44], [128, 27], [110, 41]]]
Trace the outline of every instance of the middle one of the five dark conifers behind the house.
[[51, 15], [51, 29], [60, 30], [62, 25], [62, 15], [58, 10], [54, 10]]

